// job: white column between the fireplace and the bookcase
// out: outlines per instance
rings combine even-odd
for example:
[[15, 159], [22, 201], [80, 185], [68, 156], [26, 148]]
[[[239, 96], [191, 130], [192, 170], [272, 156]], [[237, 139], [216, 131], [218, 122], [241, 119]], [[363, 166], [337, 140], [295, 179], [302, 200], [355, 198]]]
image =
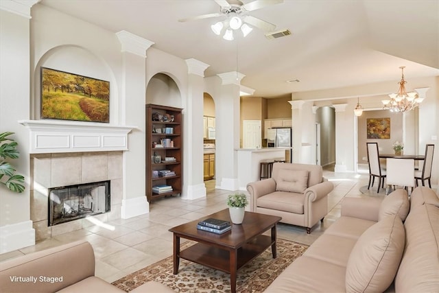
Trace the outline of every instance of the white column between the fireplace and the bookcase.
[[116, 35], [123, 60], [121, 124], [137, 126], [128, 136], [128, 151], [123, 152], [121, 218], [127, 219], [150, 211], [145, 194], [145, 59], [146, 50], [154, 43], [126, 31]]

